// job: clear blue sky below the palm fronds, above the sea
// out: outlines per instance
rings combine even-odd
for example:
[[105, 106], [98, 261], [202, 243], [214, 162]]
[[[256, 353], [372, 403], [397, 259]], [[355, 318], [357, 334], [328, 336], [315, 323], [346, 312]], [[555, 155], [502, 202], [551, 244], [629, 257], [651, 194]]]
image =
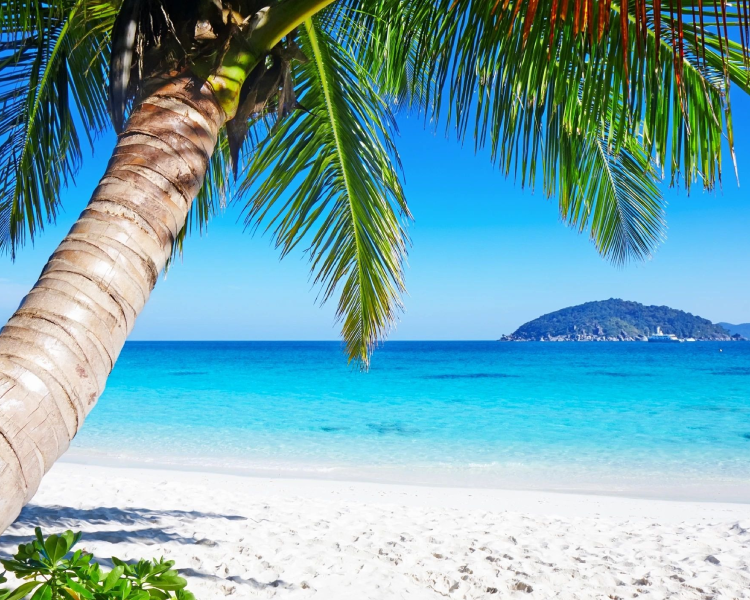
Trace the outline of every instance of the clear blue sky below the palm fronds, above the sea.
[[[588, 237], [565, 227], [555, 200], [506, 180], [486, 154], [399, 118], [398, 148], [415, 221], [405, 310], [389, 339], [486, 340], [542, 314], [591, 300], [668, 305], [714, 322], [750, 322], [750, 101], [735, 95], [738, 187], [663, 185], [666, 242], [646, 263], [612, 266]], [[18, 306], [88, 201], [114, 144], [96, 144], [66, 211], [15, 262], [0, 256], [0, 322]], [[335, 301], [321, 307], [301, 251], [279, 261], [268, 236], [251, 235], [230, 207], [186, 243], [156, 286], [133, 340], [334, 340]]]

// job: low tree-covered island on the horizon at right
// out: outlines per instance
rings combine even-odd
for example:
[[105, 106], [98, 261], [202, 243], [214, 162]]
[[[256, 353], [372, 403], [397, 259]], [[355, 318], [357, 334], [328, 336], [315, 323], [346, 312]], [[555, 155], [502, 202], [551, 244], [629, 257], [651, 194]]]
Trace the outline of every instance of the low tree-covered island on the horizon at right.
[[668, 306], [611, 298], [543, 315], [521, 325], [503, 342], [640, 342], [657, 332], [696, 341], [744, 339], [708, 319]]

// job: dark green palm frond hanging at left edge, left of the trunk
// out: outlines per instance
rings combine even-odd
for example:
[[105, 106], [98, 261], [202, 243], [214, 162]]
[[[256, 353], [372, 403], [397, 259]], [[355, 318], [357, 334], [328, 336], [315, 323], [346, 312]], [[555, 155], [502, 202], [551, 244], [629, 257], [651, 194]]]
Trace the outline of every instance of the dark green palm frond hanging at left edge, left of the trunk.
[[105, 0], [0, 3], [0, 250], [54, 221], [60, 191], [108, 124]]

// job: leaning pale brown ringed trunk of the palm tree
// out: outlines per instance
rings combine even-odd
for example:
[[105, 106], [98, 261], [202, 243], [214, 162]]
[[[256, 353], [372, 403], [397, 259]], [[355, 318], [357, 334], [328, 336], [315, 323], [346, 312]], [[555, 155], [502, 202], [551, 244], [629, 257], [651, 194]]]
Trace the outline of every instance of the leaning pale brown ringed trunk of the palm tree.
[[89, 205], [0, 331], [0, 533], [104, 390], [225, 118], [188, 75], [144, 100]]

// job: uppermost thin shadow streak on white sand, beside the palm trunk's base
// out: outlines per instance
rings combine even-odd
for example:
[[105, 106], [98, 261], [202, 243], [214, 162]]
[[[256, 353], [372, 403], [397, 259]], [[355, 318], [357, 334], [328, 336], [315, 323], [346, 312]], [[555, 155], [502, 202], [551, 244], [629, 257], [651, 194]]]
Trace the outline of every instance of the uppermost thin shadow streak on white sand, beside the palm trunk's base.
[[[120, 523], [122, 525], [148, 525], [160, 521], [164, 517], [175, 517], [181, 521], [195, 521], [196, 519], [227, 519], [229, 521], [247, 521], [241, 515], [222, 515], [196, 510], [152, 510], [147, 508], [116, 508], [99, 506], [83, 509], [69, 506], [26, 506], [16, 519], [14, 525], [32, 525], [34, 527], [66, 527], [80, 528], [86, 524], [106, 525]], [[2, 540], [4, 536], [0, 536]]]

